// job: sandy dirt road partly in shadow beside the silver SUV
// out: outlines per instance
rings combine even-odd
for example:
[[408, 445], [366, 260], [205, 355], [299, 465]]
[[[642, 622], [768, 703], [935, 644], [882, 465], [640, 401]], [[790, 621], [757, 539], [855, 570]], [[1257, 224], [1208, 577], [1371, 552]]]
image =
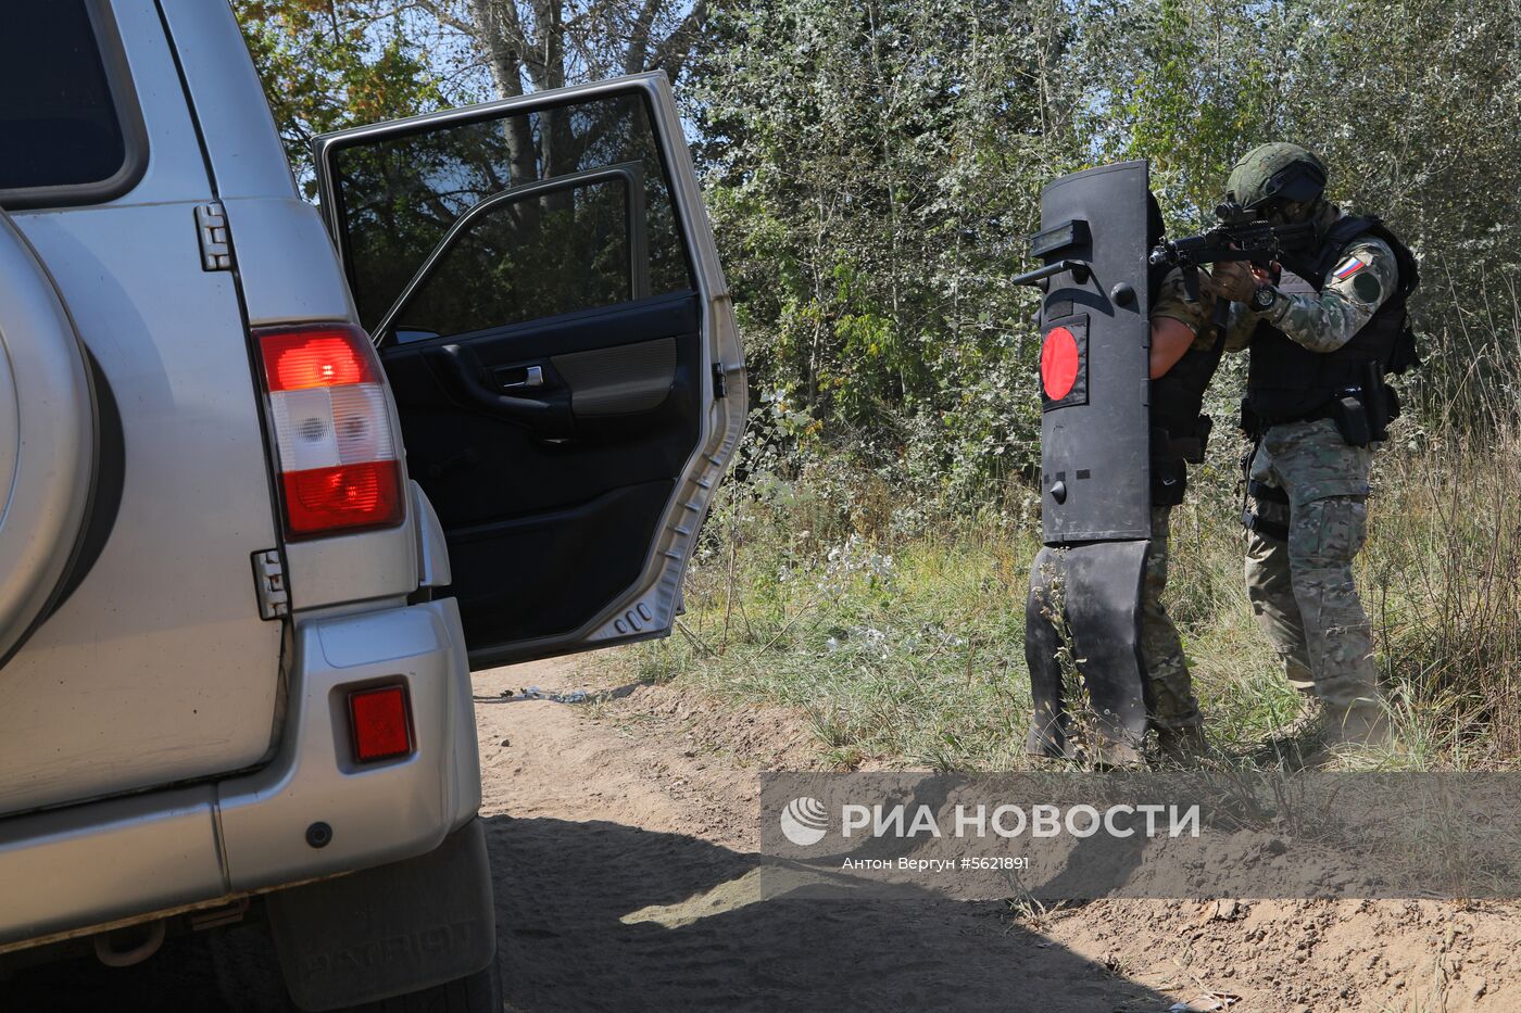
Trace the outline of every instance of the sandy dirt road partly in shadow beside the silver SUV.
[[567, 662], [488, 672], [478, 698], [513, 1010], [1521, 1008], [1516, 905], [759, 900], [757, 771], [817, 762], [800, 715]]

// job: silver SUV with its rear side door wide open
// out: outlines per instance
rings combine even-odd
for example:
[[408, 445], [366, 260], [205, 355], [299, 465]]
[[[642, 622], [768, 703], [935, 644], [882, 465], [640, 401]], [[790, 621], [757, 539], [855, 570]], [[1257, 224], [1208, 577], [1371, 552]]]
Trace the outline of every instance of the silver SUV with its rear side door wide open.
[[473, 1008], [470, 671], [668, 633], [745, 417], [669, 87], [322, 137], [319, 213], [225, 3], [5, 18], [0, 964]]

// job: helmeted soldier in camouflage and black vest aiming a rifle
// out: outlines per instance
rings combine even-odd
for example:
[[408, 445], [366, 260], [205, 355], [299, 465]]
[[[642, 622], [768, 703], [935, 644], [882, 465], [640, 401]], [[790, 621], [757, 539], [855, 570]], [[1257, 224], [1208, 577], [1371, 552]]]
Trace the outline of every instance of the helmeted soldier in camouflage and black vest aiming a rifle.
[[1278, 277], [1221, 263], [1205, 286], [1238, 304], [1226, 344], [1250, 356], [1247, 593], [1290, 683], [1323, 704], [1335, 747], [1387, 739], [1352, 560], [1367, 532], [1373, 450], [1398, 414], [1383, 376], [1415, 362], [1405, 298], [1418, 272], [1377, 218], [1328, 204], [1325, 183], [1303, 148], [1249, 152], [1229, 196], [1273, 224], [1314, 222], [1314, 237], [1285, 251]]

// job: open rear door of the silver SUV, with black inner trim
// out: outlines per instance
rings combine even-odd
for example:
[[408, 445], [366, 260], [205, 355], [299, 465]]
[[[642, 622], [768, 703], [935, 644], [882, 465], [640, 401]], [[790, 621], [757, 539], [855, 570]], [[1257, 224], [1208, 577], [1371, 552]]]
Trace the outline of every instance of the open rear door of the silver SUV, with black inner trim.
[[472, 668], [669, 633], [745, 376], [665, 75], [315, 148]]

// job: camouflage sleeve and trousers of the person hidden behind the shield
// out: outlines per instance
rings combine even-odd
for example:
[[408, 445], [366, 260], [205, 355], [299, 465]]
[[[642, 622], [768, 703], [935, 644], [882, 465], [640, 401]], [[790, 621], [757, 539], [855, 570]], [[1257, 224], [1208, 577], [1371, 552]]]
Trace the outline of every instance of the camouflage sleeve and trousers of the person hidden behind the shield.
[[[1189, 303], [1183, 291], [1183, 272], [1173, 269], [1162, 280], [1151, 306], [1151, 319], [1170, 316], [1194, 332], [1194, 350], [1209, 350], [1209, 332], [1200, 336], [1203, 304]], [[1167, 590], [1168, 529], [1171, 506], [1151, 506], [1151, 546], [1145, 555], [1141, 584], [1141, 659], [1145, 663], [1147, 697], [1151, 724], [1165, 730], [1197, 729], [1203, 724], [1199, 700], [1194, 697], [1183, 642], [1173, 618], [1167, 614], [1162, 595]]]

